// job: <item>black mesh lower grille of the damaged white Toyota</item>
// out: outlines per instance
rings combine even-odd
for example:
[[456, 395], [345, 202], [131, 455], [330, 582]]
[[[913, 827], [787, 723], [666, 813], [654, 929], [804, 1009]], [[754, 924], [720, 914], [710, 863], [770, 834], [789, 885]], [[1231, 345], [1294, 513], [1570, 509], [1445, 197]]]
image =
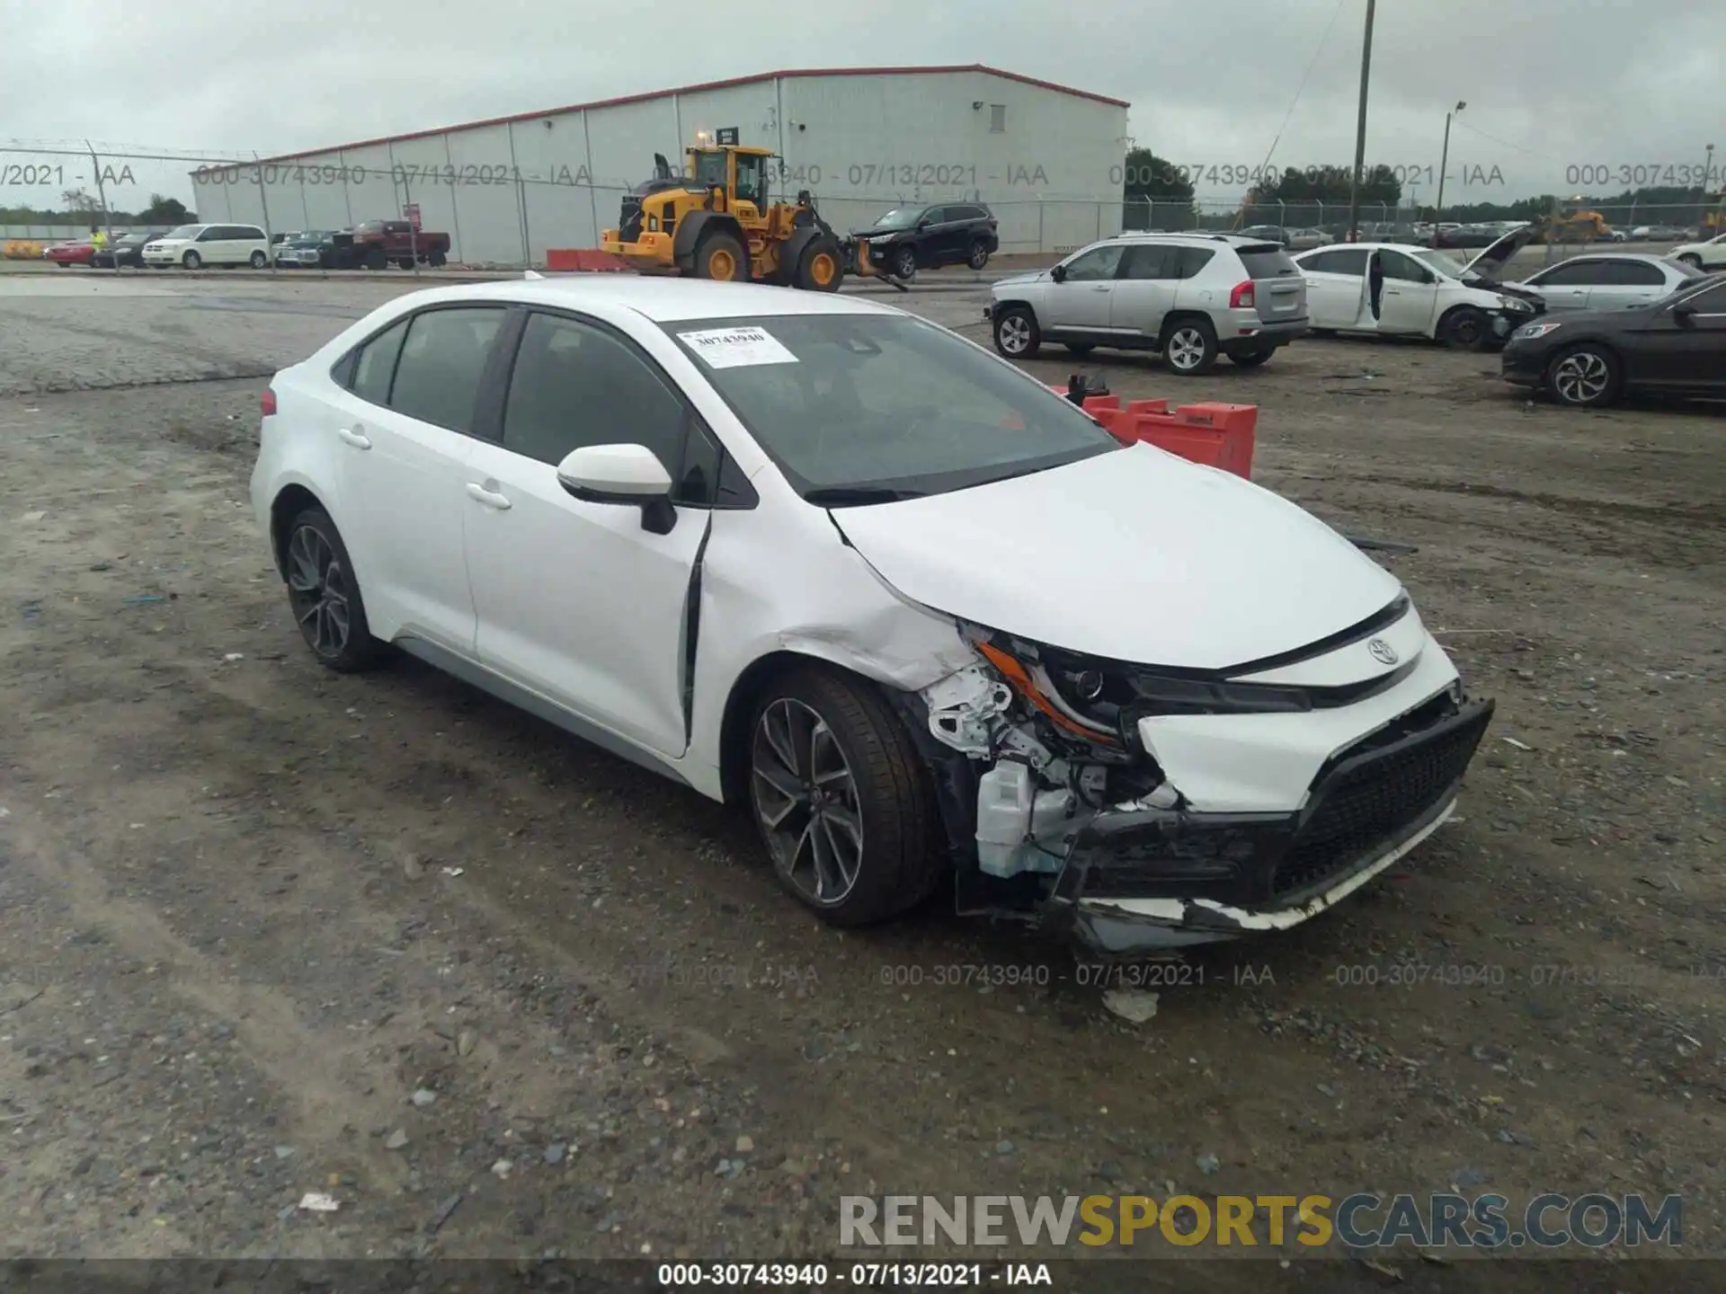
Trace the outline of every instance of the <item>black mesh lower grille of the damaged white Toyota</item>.
[[1450, 792], [1491, 721], [1491, 707], [1453, 716], [1383, 751], [1348, 757], [1317, 787], [1317, 802], [1277, 866], [1277, 897], [1377, 857]]

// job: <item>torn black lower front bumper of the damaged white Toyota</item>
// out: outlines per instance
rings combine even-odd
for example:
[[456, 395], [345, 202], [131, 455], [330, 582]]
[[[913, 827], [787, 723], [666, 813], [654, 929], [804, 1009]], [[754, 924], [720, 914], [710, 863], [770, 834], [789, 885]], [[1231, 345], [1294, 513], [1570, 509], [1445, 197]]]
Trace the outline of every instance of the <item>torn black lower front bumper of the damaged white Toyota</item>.
[[1331, 759], [1294, 813], [1096, 814], [1067, 851], [1044, 921], [1098, 956], [1124, 958], [1317, 916], [1455, 811], [1493, 702], [1438, 702], [1419, 728]]

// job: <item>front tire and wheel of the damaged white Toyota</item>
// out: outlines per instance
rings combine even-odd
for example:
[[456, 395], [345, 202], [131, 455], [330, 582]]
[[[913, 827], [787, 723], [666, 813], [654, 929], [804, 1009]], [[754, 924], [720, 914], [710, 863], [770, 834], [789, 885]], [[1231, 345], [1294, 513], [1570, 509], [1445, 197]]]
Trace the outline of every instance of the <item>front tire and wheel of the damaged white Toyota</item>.
[[749, 728], [749, 807], [780, 883], [823, 921], [885, 921], [942, 875], [934, 787], [904, 725], [863, 682], [799, 669]]

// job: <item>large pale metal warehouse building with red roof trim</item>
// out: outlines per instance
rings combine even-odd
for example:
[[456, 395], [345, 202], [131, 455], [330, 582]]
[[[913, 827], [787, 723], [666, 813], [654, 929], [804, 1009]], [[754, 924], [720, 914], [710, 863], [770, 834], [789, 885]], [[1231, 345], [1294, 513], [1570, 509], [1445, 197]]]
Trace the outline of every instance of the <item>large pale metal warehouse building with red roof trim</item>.
[[[784, 159], [839, 229], [898, 204], [972, 198], [1003, 252], [1063, 250], [1120, 231], [1127, 104], [994, 67], [763, 72], [335, 148], [200, 167], [204, 221], [340, 229], [419, 209], [464, 264], [544, 264], [597, 247], [654, 154], [735, 128]], [[775, 183], [775, 192], [778, 183]]]

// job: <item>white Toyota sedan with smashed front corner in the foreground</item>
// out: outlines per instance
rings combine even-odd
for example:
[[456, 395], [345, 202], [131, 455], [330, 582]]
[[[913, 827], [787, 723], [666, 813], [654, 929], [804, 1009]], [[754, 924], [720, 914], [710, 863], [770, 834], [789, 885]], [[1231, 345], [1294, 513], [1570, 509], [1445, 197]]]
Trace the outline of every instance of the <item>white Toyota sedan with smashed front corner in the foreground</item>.
[[1450, 816], [1491, 718], [1319, 519], [858, 297], [416, 292], [262, 407], [321, 663], [404, 649], [747, 807], [839, 925], [946, 885], [1115, 954], [1282, 930]]

